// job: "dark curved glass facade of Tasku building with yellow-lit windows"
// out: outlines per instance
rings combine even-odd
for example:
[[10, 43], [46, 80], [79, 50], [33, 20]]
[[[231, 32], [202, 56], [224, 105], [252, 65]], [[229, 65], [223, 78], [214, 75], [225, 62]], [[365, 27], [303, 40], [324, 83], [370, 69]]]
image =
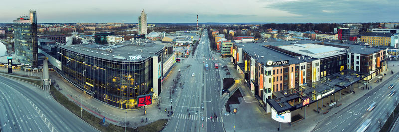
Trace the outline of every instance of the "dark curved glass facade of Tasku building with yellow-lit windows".
[[[108, 60], [57, 48], [61, 73], [87, 94], [112, 106], [136, 109], [137, 96], [153, 92], [153, 58]], [[158, 55], [161, 59], [161, 55]]]

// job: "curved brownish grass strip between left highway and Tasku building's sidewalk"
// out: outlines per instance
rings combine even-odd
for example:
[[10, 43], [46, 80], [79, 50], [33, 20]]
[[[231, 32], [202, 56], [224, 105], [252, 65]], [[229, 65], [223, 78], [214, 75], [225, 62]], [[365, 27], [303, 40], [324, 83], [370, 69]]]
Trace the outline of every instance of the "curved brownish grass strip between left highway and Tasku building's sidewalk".
[[[66, 107], [69, 111], [71, 111], [73, 114], [76, 116], [80, 117], [80, 106], [76, 105], [74, 102], [69, 101], [67, 97], [65, 97], [61, 92], [55, 89], [54, 86], [51, 86], [51, 94], [57, 100], [61, 105]], [[82, 119], [89, 123], [91, 126], [97, 128], [98, 130], [102, 132], [123, 132], [125, 131], [124, 127], [116, 126], [113, 124], [108, 125], [107, 127], [104, 127], [98, 123], [101, 122], [100, 118], [97, 118], [96, 116], [90, 114], [87, 111], [82, 112]], [[168, 119], [160, 119], [158, 121], [155, 121], [151, 124], [148, 124], [146, 126], [138, 127], [137, 129], [134, 128], [126, 128], [126, 131], [128, 132], [160, 132], [162, 129], [164, 129], [166, 122], [168, 122]]]

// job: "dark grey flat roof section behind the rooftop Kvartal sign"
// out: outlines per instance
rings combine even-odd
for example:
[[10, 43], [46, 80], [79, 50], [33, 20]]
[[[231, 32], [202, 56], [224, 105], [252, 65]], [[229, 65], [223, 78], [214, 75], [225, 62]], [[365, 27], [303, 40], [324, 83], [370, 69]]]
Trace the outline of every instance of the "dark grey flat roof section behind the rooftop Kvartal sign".
[[[291, 55], [282, 53], [280, 51], [268, 48], [264, 45], [264, 43], [245, 43], [245, 44], [235, 44], [238, 47], [242, 48], [245, 52], [247, 52], [252, 58], [256, 59], [257, 62], [260, 62], [262, 64], [265, 64], [268, 61], [284, 61], [288, 60], [288, 64], [284, 65], [289, 65], [289, 64], [298, 64], [306, 61], [312, 61], [314, 59], [308, 59], [308, 58], [300, 58], [298, 57], [293, 57]], [[279, 66], [279, 65], [274, 65], [274, 66]], [[282, 65], [280, 65], [282, 66]]]

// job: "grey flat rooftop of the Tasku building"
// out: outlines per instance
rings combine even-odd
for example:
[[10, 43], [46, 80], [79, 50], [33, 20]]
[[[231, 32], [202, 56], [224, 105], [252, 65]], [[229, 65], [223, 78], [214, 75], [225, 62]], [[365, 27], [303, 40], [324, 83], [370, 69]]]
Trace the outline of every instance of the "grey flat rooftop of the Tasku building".
[[[88, 56], [99, 57], [108, 60], [136, 62], [151, 56], [161, 54], [164, 45], [159, 44], [116, 44], [116, 45], [96, 45], [83, 44], [72, 46], [60, 46], [62, 48], [82, 53]], [[111, 51], [111, 52], [110, 52]], [[140, 58], [141, 56], [141, 58]]]

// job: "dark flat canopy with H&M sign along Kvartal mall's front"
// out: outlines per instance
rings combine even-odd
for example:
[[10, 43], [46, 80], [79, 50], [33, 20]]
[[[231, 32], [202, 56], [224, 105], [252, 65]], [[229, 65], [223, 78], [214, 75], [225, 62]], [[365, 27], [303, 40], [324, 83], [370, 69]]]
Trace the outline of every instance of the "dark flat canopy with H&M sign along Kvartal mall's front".
[[[320, 81], [313, 82], [312, 86], [300, 86], [283, 91], [273, 92], [276, 97], [266, 102], [281, 115], [285, 111], [294, 111], [318, 100], [328, 97], [346, 87], [362, 80], [367, 75], [353, 70], [344, 70], [339, 73], [323, 77]], [[299, 102], [290, 104], [289, 101], [300, 99]], [[303, 100], [309, 99], [309, 104], [303, 105]]]

